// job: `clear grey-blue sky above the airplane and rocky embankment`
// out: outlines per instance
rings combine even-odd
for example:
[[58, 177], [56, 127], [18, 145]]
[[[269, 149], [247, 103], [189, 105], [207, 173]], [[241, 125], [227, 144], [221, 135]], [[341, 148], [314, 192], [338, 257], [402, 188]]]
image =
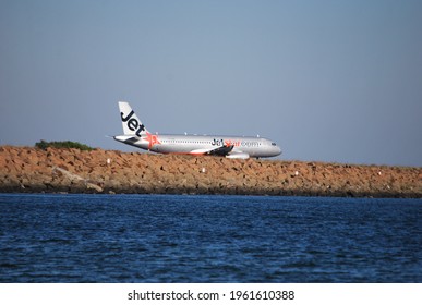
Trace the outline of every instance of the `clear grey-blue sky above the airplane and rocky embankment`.
[[0, 145], [260, 135], [282, 160], [422, 167], [422, 1], [0, 0]]

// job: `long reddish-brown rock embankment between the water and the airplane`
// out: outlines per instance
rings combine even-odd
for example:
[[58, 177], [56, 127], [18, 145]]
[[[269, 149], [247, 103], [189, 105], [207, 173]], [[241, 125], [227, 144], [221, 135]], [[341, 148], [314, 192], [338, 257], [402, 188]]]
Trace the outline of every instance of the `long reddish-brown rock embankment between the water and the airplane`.
[[0, 147], [0, 192], [422, 197], [422, 168]]

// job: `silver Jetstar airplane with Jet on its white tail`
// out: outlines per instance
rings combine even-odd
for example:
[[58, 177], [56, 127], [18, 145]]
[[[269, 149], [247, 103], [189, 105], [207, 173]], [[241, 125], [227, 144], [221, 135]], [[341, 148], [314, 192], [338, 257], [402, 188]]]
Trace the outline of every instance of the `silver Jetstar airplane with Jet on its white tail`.
[[118, 142], [159, 154], [220, 156], [230, 159], [276, 157], [276, 143], [264, 137], [226, 135], [152, 134], [126, 101], [119, 101], [123, 135]]

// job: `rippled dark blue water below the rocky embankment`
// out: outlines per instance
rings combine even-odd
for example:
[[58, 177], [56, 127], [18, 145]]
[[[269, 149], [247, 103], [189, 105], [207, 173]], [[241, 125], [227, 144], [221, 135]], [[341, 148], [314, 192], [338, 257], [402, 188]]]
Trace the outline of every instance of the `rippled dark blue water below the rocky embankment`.
[[0, 194], [1, 282], [421, 282], [422, 200]]

